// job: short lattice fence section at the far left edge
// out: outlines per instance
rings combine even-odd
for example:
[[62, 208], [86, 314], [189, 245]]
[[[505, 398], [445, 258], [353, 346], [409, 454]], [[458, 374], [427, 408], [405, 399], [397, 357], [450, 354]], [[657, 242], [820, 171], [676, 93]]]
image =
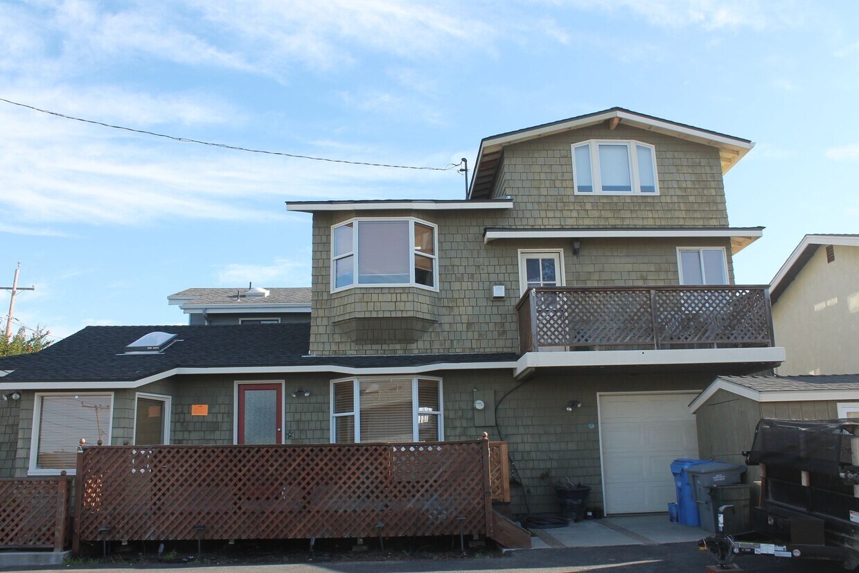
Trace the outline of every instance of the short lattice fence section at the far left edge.
[[[0, 548], [54, 547], [58, 517], [63, 527], [69, 519], [69, 488], [61, 491], [59, 482], [56, 478], [0, 479]], [[60, 496], [65, 497], [66, 512], [58, 516]]]

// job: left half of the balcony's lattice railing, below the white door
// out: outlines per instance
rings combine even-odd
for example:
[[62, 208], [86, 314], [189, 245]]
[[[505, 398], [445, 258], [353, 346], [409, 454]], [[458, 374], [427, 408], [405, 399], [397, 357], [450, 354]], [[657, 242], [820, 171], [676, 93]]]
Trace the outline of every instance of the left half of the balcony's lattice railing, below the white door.
[[537, 291], [540, 346], [654, 344], [647, 290]]

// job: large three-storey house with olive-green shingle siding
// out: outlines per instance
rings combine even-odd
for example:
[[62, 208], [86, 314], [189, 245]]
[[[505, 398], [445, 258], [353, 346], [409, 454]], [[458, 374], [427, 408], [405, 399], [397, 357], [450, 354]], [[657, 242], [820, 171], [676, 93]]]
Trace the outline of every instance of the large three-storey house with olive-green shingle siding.
[[749, 149], [612, 108], [484, 138], [463, 200], [289, 203], [313, 214], [309, 326], [88, 327], [0, 379], [23, 393], [11, 471], [70, 469], [51, 454], [86, 424], [141, 442], [143, 417], [172, 443], [486, 431], [515, 512], [556, 509], [565, 477], [607, 513], [664, 511], [670, 462], [698, 457], [689, 402], [784, 359], [767, 290], [734, 285], [762, 229], [728, 227], [722, 176]]

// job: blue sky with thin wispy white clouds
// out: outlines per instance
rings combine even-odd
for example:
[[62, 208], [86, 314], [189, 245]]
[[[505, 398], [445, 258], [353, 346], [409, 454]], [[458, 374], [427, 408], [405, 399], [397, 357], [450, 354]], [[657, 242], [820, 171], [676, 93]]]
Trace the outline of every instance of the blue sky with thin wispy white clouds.
[[[859, 233], [857, 30], [848, 0], [0, 0], [0, 98], [432, 168], [626, 107], [756, 143], [725, 187], [732, 226], [766, 227], [734, 258], [762, 284], [802, 235]], [[286, 201], [464, 196], [456, 168], [0, 101], [0, 286], [21, 261], [14, 326], [53, 337], [186, 324], [189, 287], [308, 286]]]

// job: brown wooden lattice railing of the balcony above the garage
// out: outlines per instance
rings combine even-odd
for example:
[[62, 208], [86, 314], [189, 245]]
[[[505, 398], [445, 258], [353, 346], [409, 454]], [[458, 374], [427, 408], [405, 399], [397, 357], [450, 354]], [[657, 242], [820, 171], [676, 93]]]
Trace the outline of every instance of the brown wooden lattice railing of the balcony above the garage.
[[774, 345], [766, 286], [539, 287], [516, 313], [521, 354]]

